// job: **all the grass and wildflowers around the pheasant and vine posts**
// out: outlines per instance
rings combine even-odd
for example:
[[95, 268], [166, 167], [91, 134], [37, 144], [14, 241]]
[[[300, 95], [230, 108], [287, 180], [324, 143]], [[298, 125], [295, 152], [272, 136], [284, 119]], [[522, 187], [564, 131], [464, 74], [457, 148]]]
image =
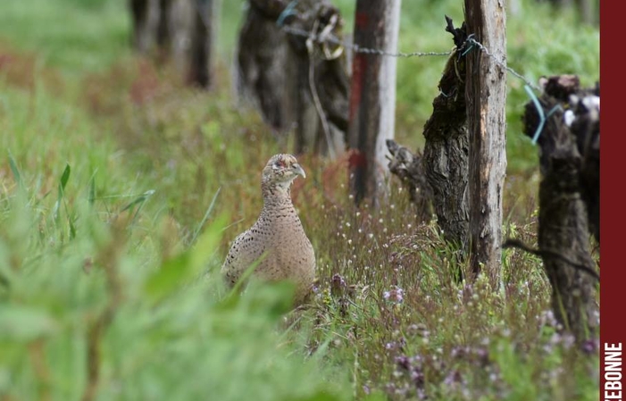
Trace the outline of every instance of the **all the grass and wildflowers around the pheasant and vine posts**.
[[[230, 77], [242, 2], [222, 3]], [[404, 2], [401, 50], [449, 49], [443, 14], [461, 21], [457, 3]], [[597, 30], [528, 6], [509, 17], [509, 65], [592, 84]], [[506, 250], [497, 292], [455, 284], [467, 266], [436, 224], [415, 223], [396, 181], [382, 210], [355, 208], [346, 160], [302, 156], [293, 188], [318, 258], [313, 306], [285, 317], [280, 285], [227, 293], [222, 257], [255, 221], [259, 172], [285, 141], [236, 106], [229, 79], [181, 88], [134, 58], [128, 35], [123, 2], [0, 3], [0, 395], [80, 399], [98, 366], [93, 399], [597, 399], [597, 353], [558, 332], [537, 258]], [[398, 60], [411, 146], [443, 63]], [[510, 77], [505, 230], [532, 244], [526, 101]]]

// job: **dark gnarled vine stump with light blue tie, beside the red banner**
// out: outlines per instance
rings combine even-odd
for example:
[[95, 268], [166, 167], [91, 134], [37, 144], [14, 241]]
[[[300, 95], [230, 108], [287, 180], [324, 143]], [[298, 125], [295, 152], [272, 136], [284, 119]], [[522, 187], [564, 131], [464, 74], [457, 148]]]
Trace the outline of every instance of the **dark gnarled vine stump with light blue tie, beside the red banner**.
[[[552, 287], [552, 308], [579, 342], [598, 329], [596, 263], [589, 229], [600, 240], [599, 88], [581, 89], [578, 77], [550, 77], [526, 104], [524, 132], [537, 140], [538, 250]], [[515, 244], [513, 244], [515, 245]]]

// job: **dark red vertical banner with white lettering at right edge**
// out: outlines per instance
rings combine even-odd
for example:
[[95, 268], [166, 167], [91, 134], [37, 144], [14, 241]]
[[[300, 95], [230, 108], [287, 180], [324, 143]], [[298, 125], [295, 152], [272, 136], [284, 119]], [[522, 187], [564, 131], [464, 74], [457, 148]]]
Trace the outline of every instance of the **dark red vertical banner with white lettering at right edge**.
[[616, 46], [622, 41], [618, 27], [622, 13], [617, 10], [618, 2], [600, 4], [600, 91], [605, 99], [600, 120], [600, 131], [608, 134], [601, 145], [600, 157], [600, 230], [605, 243], [601, 247], [600, 284], [600, 397], [601, 400], [622, 400], [622, 353], [626, 330], [624, 323], [625, 290], [623, 253], [626, 213], [618, 188], [624, 182], [624, 166], [620, 161], [626, 150], [626, 137], [620, 115], [623, 113], [620, 92], [622, 75], [620, 52]]

